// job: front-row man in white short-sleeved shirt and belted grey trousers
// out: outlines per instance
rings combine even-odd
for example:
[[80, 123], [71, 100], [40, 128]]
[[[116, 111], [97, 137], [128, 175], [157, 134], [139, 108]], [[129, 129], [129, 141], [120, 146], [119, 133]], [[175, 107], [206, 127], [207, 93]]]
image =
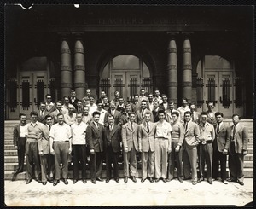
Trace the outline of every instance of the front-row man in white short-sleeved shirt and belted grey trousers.
[[49, 131], [49, 149], [50, 154], [55, 154], [55, 181], [56, 186], [60, 183], [61, 179], [61, 163], [62, 163], [62, 177], [64, 183], [67, 185], [67, 172], [68, 172], [68, 154], [72, 152], [71, 144], [71, 128], [70, 125], [64, 123], [64, 116], [62, 113], [57, 115], [58, 123], [52, 125]]

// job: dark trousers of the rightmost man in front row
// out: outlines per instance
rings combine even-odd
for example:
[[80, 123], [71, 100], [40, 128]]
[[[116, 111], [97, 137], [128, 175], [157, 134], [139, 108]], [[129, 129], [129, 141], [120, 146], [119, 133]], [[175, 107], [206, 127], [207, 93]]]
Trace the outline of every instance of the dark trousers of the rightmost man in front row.
[[243, 182], [243, 160], [244, 154], [238, 154], [235, 151], [235, 142], [230, 144], [230, 157], [229, 157], [229, 169], [230, 178], [233, 180], [239, 180]]

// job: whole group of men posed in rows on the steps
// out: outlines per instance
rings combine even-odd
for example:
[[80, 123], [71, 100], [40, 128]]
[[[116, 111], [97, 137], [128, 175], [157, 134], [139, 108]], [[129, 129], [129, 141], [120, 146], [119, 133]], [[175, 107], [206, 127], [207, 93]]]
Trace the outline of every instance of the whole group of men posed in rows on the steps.
[[[119, 183], [119, 154], [123, 153], [124, 181], [137, 182], [137, 154], [142, 164], [142, 179], [150, 183], [172, 181], [176, 176], [192, 179], [192, 184], [204, 180], [207, 164], [207, 182], [217, 180], [220, 165], [221, 181], [234, 181], [243, 185], [243, 159], [247, 154], [248, 135], [241, 125], [240, 116], [232, 116], [233, 124], [225, 125], [224, 115], [214, 112], [214, 104], [208, 102], [208, 110], [198, 113], [195, 104], [174, 109], [174, 102], [159, 90], [145, 96], [145, 90], [135, 95], [133, 102], [114, 92], [108, 101], [105, 92], [95, 102], [87, 90], [79, 100], [75, 91], [64, 96], [63, 103], [51, 102], [45, 96], [39, 112], [30, 113], [31, 122], [20, 113], [20, 124], [14, 129], [14, 145], [18, 149], [19, 167], [15, 175], [23, 171], [26, 154], [26, 183], [31, 183], [33, 168], [35, 179], [45, 185], [47, 181], [57, 185], [61, 172], [68, 184], [68, 163], [73, 161], [73, 183], [86, 183], [86, 163], [90, 165], [92, 183], [102, 180], [102, 164], [106, 162], [106, 183], [113, 179]], [[230, 178], [226, 177], [226, 160], [229, 154]], [[88, 158], [90, 156], [90, 158]], [[79, 166], [80, 165], [80, 166]], [[199, 177], [197, 175], [199, 168]]]

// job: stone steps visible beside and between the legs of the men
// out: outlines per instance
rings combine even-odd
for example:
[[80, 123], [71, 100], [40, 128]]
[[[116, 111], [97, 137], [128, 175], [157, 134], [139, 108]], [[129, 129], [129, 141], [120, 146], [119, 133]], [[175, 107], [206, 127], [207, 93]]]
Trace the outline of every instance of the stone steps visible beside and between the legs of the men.
[[[232, 125], [231, 119], [225, 119], [225, 123]], [[13, 177], [13, 172], [18, 167], [18, 156], [17, 151], [13, 146], [13, 128], [19, 120], [6, 120], [4, 122], [4, 179], [9, 180]], [[246, 125], [249, 132], [249, 143], [248, 143], [248, 154], [245, 156], [244, 162], [244, 174], [245, 177], [253, 177], [253, 119], [241, 119], [241, 124]], [[90, 168], [87, 165], [86, 177], [90, 178]], [[227, 172], [229, 175], [228, 162], [227, 162]], [[81, 175], [81, 174], [80, 174]], [[69, 166], [68, 177], [73, 178], [72, 166]], [[102, 177], [106, 177], [105, 165], [103, 164]], [[124, 177], [123, 165], [119, 164], [119, 177]], [[141, 165], [137, 165], [136, 177], [142, 177]], [[26, 179], [26, 157], [24, 172], [18, 174], [16, 179], [25, 180]]]

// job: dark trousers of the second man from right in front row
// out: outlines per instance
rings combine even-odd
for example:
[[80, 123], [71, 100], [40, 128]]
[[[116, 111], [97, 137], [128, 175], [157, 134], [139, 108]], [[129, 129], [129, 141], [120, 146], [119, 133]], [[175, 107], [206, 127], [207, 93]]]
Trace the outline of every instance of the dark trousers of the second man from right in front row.
[[218, 167], [220, 164], [220, 177], [221, 180], [226, 180], [226, 164], [227, 164], [227, 155], [218, 151], [218, 148], [213, 149], [212, 156], [212, 177], [218, 178]]

